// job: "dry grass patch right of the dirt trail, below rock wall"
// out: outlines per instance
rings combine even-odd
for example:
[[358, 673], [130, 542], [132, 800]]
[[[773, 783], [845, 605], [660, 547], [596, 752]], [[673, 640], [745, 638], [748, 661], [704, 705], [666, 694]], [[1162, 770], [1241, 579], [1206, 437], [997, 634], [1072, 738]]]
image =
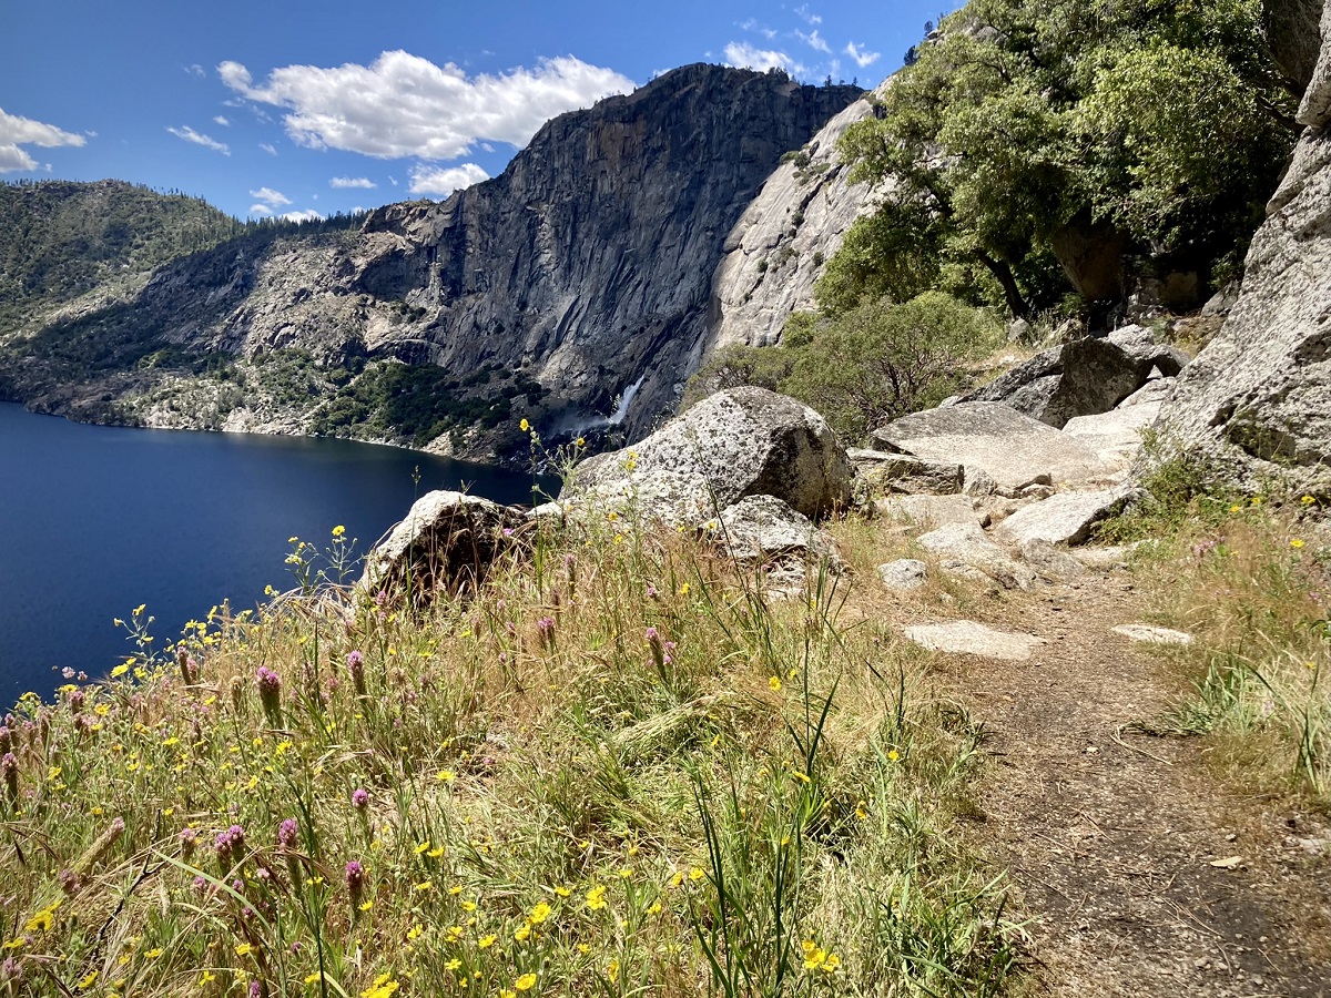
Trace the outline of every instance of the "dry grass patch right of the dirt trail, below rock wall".
[[1166, 728], [1213, 740], [1236, 784], [1331, 808], [1331, 544], [1314, 496], [1198, 492], [1187, 468], [1111, 536], [1137, 559], [1187, 693]]

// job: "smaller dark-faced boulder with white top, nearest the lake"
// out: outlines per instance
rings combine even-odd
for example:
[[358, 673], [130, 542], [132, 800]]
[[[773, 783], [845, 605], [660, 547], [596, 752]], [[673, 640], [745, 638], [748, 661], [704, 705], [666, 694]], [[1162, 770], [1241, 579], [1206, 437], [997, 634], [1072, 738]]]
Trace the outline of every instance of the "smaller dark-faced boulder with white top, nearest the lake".
[[357, 588], [370, 596], [430, 601], [474, 589], [527, 522], [524, 511], [466, 492], [426, 492], [365, 559]]

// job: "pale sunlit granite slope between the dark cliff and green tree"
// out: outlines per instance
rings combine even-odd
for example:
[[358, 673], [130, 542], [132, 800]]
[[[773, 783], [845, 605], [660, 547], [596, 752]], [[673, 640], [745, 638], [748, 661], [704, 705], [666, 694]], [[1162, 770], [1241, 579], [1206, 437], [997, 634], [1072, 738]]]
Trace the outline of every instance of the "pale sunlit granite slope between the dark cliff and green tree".
[[873, 102], [865, 96], [833, 117], [768, 177], [736, 222], [712, 281], [716, 321], [708, 353], [771, 346], [792, 311], [813, 306], [823, 263], [873, 204], [868, 185], [849, 182], [851, 166], [837, 153], [847, 128], [870, 114]]

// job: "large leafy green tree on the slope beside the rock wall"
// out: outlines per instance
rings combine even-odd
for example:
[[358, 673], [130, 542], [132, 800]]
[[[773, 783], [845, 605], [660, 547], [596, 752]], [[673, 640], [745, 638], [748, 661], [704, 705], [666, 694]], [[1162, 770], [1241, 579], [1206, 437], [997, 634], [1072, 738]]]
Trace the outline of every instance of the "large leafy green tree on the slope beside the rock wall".
[[[820, 301], [996, 283], [1030, 314], [1066, 289], [1049, 266], [1058, 237], [1091, 226], [1205, 271], [1260, 221], [1291, 114], [1258, 0], [972, 0], [847, 132], [855, 176], [884, 204], [829, 263]], [[942, 283], [957, 265], [961, 281]], [[988, 289], [965, 286], [976, 266]]]

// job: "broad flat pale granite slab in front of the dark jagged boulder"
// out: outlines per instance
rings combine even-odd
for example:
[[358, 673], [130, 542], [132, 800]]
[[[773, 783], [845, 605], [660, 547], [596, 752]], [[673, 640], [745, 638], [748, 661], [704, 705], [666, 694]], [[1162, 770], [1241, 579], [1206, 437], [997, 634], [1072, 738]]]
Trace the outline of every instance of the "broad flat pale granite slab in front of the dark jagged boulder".
[[1055, 484], [1095, 484], [1119, 471], [1117, 462], [1074, 436], [998, 402], [913, 413], [874, 430], [873, 444], [926, 460], [957, 462], [968, 482], [984, 472], [1009, 492], [1044, 476]]

